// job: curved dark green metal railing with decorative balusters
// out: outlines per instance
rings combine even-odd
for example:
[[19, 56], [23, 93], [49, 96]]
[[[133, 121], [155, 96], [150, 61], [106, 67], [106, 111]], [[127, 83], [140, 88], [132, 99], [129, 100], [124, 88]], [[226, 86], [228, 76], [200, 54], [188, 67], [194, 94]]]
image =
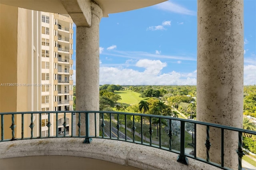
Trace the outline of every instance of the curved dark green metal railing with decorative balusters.
[[[42, 114], [46, 114], [44, 117], [48, 118], [48, 123], [44, 122], [44, 129], [47, 129], [48, 131], [47, 135], [42, 135]], [[67, 114], [71, 115], [71, 126], [67, 122]], [[76, 115], [78, 122], [74, 119], [73, 115]], [[81, 121], [81, 115], [85, 114], [85, 120]], [[95, 132], [94, 135], [89, 135], [90, 132], [90, 120], [89, 120], [89, 115], [93, 114], [94, 115], [94, 128]], [[9, 115], [9, 116], [8, 116]], [[24, 116], [26, 116], [26, 122], [27, 125], [24, 124]], [[62, 134], [60, 134], [59, 130], [59, 121], [60, 121], [60, 116], [61, 119], [64, 119], [64, 122], [61, 124], [61, 127], [64, 128], [64, 131]], [[116, 118], [114, 118], [116, 115]], [[123, 115], [122, 125], [124, 127], [124, 132], [121, 132], [120, 127], [121, 127], [121, 120], [120, 120], [120, 115]], [[106, 116], [108, 117], [108, 121], [106, 121]], [[19, 117], [19, 118], [18, 118]], [[21, 119], [20, 119], [21, 117]], [[28, 117], [30, 117], [30, 121], [28, 121]], [[39, 119], [37, 120], [36, 119]], [[50, 122], [51, 120], [54, 120], [53, 118], [55, 117], [55, 122]], [[97, 117], [100, 118], [100, 124], [97, 125]], [[127, 122], [128, 122], [128, 117], [132, 117], [132, 127], [128, 128]], [[140, 141], [137, 141], [136, 138], [136, 123], [135, 123], [135, 117], [140, 117]], [[148, 135], [149, 135], [149, 141], [144, 142], [143, 141], [143, 121], [142, 119], [146, 117], [149, 121], [149, 128], [148, 128]], [[235, 128], [235, 127], [228, 127], [228, 126], [223, 126], [223, 125], [216, 125], [212, 123], [205, 123], [205, 122], [199, 122], [199, 121], [192, 121], [192, 120], [187, 120], [187, 119], [179, 119], [179, 118], [174, 118], [174, 117], [166, 117], [166, 116], [159, 116], [159, 115], [144, 115], [144, 114], [138, 114], [138, 113], [123, 113], [123, 112], [113, 112], [113, 111], [44, 111], [44, 112], [16, 112], [16, 113], [0, 113], [0, 119], [1, 119], [1, 140], [0, 142], [4, 141], [10, 141], [10, 140], [24, 140], [24, 139], [35, 139], [35, 138], [58, 138], [58, 137], [79, 137], [79, 138], [85, 138], [84, 143], [90, 143], [92, 141], [92, 138], [107, 138], [107, 139], [112, 139], [112, 140], [122, 140], [126, 142], [134, 142], [137, 144], [143, 144], [155, 148], [160, 148], [163, 150], [168, 150], [170, 152], [174, 152], [178, 154], [178, 162], [181, 162], [183, 164], [188, 164], [188, 158], [193, 158], [196, 160], [200, 160], [202, 162], [205, 162], [207, 164], [211, 164], [213, 166], [222, 168], [222, 169], [229, 169], [224, 166], [224, 130], [231, 130], [234, 132], [237, 132], [238, 134], [238, 148], [236, 150], [238, 154], [238, 170], [242, 170], [242, 156], [244, 155], [244, 152], [242, 151], [242, 133], [248, 133], [248, 134], [254, 134], [256, 135], [256, 131], [252, 130], [245, 130], [242, 128]], [[158, 119], [158, 125], [159, 125], [159, 143], [155, 144], [152, 142], [152, 119]], [[162, 121], [168, 120], [168, 133], [162, 134]], [[15, 125], [14, 123], [19, 122], [19, 127]], [[172, 149], [172, 121], [178, 121], [180, 122], [180, 150], [174, 150]], [[5, 125], [6, 122], [10, 123], [9, 125]], [[81, 135], [81, 125], [82, 122], [85, 122], [85, 135]], [[106, 134], [106, 123], [109, 122], [109, 134]], [[116, 123], [116, 137], [112, 136], [112, 122]], [[185, 123], [193, 123], [194, 124], [194, 155], [186, 154], [185, 153]], [[67, 126], [69, 125], [69, 126]], [[137, 124], [138, 125], [138, 124]], [[206, 160], [203, 158], [200, 158], [196, 154], [196, 125], [204, 125], [206, 126]], [[12, 138], [4, 138], [6, 130], [6, 126], [10, 126], [11, 129], [11, 135]], [[24, 137], [24, 127], [30, 128], [30, 136]], [[53, 127], [52, 127], [53, 126]], [[51, 131], [54, 131], [54, 126], [55, 126], [55, 133], [52, 133]], [[5, 127], [5, 128], [4, 128]], [[36, 131], [35, 131], [36, 127]], [[47, 128], [46, 128], [47, 127]], [[68, 127], [68, 132], [67, 132], [67, 127]], [[101, 130], [100, 128], [101, 127]], [[221, 164], [216, 164], [214, 162], [210, 161], [210, 156], [209, 156], [209, 150], [211, 147], [210, 143], [210, 128], [219, 128], [221, 130]], [[16, 130], [17, 129], [17, 130]], [[132, 136], [128, 136], [128, 129], [131, 130]], [[74, 134], [74, 130], [76, 130], [76, 133], [78, 135]], [[21, 134], [17, 134], [18, 131]], [[97, 135], [98, 132], [101, 132], [101, 135]], [[71, 133], [70, 133], [71, 132]], [[120, 134], [124, 135], [124, 137], [120, 137]], [[15, 137], [20, 136], [20, 138]], [[162, 146], [162, 136], [166, 135], [169, 138], [168, 141], [168, 147]]]

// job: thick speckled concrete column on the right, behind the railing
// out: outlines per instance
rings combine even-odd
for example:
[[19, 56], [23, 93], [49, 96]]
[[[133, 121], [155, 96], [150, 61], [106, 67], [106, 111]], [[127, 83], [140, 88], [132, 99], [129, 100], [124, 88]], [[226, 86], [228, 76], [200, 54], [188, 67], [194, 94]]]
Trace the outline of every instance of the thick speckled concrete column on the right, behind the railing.
[[[197, 120], [242, 128], [243, 0], [198, 0]], [[221, 131], [210, 128], [210, 160], [220, 164]], [[206, 158], [206, 127], [197, 127]], [[238, 133], [224, 132], [224, 166], [237, 169]]]

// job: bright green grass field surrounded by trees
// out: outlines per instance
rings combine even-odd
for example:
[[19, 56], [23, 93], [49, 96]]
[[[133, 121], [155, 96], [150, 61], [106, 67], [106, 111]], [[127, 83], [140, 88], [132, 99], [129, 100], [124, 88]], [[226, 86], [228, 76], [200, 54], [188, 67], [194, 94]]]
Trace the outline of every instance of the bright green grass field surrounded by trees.
[[135, 105], [138, 104], [143, 98], [139, 97], [140, 93], [136, 93], [134, 91], [128, 91], [128, 90], [120, 90], [115, 91], [115, 94], [118, 94], [121, 96], [121, 100], [118, 101], [118, 103], [126, 103], [128, 105]]

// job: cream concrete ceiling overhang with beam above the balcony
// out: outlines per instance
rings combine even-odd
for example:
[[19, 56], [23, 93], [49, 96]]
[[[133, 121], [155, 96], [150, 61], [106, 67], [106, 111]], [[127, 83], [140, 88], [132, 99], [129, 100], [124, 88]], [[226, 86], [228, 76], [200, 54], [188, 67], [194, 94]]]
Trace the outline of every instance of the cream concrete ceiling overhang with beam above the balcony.
[[[69, 14], [77, 26], [91, 26], [91, 0], [0, 0], [1, 4], [30, 10]], [[95, 0], [102, 8], [103, 17], [108, 14], [136, 10], [167, 0]]]

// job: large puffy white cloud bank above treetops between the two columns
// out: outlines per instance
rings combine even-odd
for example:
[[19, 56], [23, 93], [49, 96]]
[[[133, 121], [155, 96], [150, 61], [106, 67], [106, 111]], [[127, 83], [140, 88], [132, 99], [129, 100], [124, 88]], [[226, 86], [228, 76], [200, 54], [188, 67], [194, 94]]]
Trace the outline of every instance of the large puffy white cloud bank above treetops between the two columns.
[[[161, 71], [167, 66], [160, 60], [141, 59], [137, 67], [145, 68], [144, 71], [135, 69], [122, 69], [116, 67], [100, 67], [100, 84], [120, 85], [196, 85], [196, 73], [178, 73]], [[192, 75], [188, 77], [188, 75]]]

